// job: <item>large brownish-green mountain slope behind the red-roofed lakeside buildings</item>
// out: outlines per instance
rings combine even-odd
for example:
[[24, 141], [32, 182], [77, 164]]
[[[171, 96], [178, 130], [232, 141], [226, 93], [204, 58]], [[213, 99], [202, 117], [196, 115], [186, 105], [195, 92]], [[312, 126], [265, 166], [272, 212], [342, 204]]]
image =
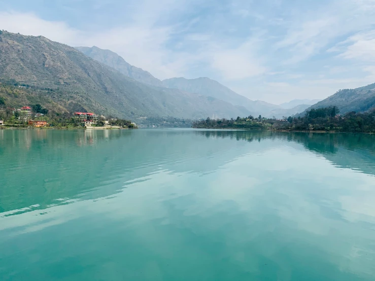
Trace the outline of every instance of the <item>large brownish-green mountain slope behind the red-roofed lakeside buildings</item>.
[[[23, 102], [27, 104], [18, 106], [41, 100], [47, 109], [80, 109], [131, 119], [231, 118], [249, 114], [245, 108], [217, 98], [140, 83], [73, 47], [42, 36], [1, 31], [0, 78], [32, 86], [24, 92]], [[7, 104], [17, 103], [11, 92], [4, 95]]]

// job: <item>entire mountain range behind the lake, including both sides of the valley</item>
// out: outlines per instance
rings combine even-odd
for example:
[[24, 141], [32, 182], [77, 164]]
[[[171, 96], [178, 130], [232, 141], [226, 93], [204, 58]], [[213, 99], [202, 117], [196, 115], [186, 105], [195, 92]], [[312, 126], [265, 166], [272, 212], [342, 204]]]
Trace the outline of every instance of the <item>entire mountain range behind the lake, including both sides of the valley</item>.
[[0, 57], [0, 79], [14, 79], [35, 86], [33, 89], [51, 89], [49, 95], [38, 90], [25, 93], [22, 101], [8, 94], [4, 98], [14, 107], [39, 102], [50, 109], [94, 111], [131, 119], [144, 116], [196, 119], [250, 114], [281, 118], [327, 106], [338, 106], [342, 113], [360, 112], [375, 104], [375, 84], [371, 84], [340, 90], [322, 101], [296, 99], [276, 105], [251, 100], [209, 78], [160, 81], [110, 50], [73, 48], [41, 36], [7, 31], [0, 31]]

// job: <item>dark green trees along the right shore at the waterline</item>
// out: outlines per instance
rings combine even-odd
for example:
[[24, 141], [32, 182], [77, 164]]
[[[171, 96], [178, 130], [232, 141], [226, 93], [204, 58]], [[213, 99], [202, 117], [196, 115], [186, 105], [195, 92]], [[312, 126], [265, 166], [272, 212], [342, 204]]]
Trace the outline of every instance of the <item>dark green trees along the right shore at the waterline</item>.
[[349, 112], [338, 115], [337, 107], [312, 109], [304, 117], [288, 117], [287, 120], [240, 118], [233, 120], [206, 119], [194, 122], [194, 128], [220, 129], [275, 129], [289, 131], [336, 131], [375, 133], [375, 110], [367, 113]]

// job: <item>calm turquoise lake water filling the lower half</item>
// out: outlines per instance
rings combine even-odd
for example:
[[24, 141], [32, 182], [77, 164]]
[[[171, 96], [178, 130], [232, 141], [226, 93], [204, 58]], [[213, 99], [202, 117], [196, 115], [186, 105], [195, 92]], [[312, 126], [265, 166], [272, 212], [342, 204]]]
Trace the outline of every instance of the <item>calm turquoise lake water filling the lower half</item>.
[[375, 136], [0, 130], [0, 280], [374, 280]]

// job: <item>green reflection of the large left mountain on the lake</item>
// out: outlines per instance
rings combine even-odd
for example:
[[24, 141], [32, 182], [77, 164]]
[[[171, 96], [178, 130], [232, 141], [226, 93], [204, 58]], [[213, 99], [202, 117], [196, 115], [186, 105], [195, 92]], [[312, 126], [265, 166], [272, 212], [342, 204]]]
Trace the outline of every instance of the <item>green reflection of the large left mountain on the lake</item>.
[[[214, 136], [193, 130], [5, 131], [0, 135], [0, 157], [9, 159], [14, 169], [7, 169], [5, 177], [0, 163], [0, 178], [5, 179], [0, 212], [34, 204], [44, 208], [56, 199], [81, 197], [92, 190], [95, 195], [89, 196], [111, 195], [123, 188], [113, 184], [114, 179], [124, 183], [160, 169], [209, 173], [247, 152], [247, 144], [233, 143], [233, 138], [253, 139], [249, 132], [231, 131], [207, 142], [202, 134]], [[204, 165], [199, 163], [202, 157], [207, 159]]]

